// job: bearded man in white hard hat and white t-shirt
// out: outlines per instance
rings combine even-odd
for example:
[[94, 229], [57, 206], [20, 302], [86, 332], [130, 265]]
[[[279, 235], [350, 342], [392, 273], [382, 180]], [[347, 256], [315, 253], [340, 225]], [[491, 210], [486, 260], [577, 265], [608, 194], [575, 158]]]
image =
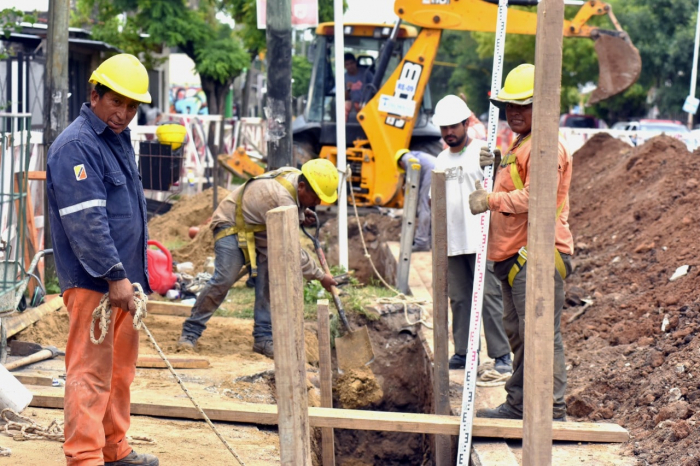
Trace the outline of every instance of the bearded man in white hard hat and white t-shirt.
[[[455, 343], [450, 369], [464, 369], [466, 365], [474, 268], [479, 246], [479, 219], [469, 211], [469, 195], [484, 179], [479, 164], [483, 141], [475, 141], [467, 135], [471, 115], [466, 102], [456, 95], [441, 99], [433, 115], [433, 123], [440, 127], [442, 139], [449, 146], [438, 155], [435, 169], [445, 172], [447, 192], [447, 294], [452, 308]], [[502, 325], [502, 308], [484, 305], [483, 314], [489, 356], [496, 359], [496, 367], [502, 369], [505, 358], [510, 362], [510, 348]]]

